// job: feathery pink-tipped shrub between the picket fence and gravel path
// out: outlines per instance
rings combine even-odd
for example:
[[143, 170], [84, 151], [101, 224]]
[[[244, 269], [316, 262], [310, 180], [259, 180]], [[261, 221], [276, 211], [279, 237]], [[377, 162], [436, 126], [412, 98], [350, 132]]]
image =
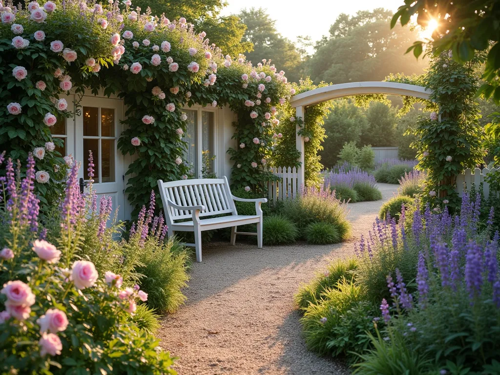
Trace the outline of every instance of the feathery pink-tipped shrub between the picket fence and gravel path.
[[322, 221], [335, 226], [342, 239], [346, 239], [350, 232], [350, 223], [346, 219], [347, 204], [322, 187], [319, 190], [311, 187], [302, 195], [283, 201], [281, 214], [293, 221], [298, 228]]

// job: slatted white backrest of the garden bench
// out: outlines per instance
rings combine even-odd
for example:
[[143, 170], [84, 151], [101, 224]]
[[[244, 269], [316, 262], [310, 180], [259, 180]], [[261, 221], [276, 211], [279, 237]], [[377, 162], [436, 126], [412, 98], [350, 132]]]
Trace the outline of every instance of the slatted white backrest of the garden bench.
[[227, 178], [198, 178], [181, 181], [163, 182], [158, 180], [161, 200], [167, 224], [174, 220], [192, 218], [188, 209], [176, 209], [168, 205], [167, 199], [180, 206], [203, 205], [204, 211], [199, 216], [211, 216], [221, 213], [236, 214]]

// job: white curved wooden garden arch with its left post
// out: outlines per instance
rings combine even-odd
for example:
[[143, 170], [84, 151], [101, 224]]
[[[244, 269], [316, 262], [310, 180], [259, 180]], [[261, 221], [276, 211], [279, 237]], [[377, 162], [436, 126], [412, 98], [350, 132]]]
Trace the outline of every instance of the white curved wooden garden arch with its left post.
[[[295, 108], [296, 116], [304, 118], [305, 107], [312, 104], [317, 104], [322, 101], [336, 99], [344, 96], [366, 95], [382, 93], [388, 95], [413, 96], [421, 99], [428, 99], [431, 90], [414, 84], [397, 83], [397, 82], [350, 82], [332, 84], [329, 86], [318, 87], [310, 91], [301, 92], [293, 95], [290, 99], [290, 104]], [[300, 128], [297, 126], [296, 131]], [[297, 150], [300, 151], [300, 165], [297, 171], [298, 185], [304, 183], [304, 138], [296, 135], [295, 144]]]

